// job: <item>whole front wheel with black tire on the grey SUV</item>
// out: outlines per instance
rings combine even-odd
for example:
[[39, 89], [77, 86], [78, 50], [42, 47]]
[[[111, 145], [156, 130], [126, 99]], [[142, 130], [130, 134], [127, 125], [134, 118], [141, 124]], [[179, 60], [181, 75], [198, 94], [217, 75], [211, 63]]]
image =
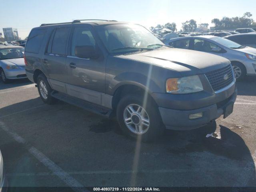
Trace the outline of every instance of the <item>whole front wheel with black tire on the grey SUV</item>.
[[[127, 136], [133, 139], [141, 138], [144, 142], [153, 141], [164, 132], [162, 119], [156, 104], [154, 104], [151, 98], [148, 97], [146, 106], [142, 106], [143, 96], [139, 94], [128, 94], [118, 102], [116, 117], [121, 130]], [[138, 108], [140, 109], [138, 110]], [[126, 120], [125, 122], [125, 118], [130, 118], [130, 120]], [[144, 125], [142, 125], [142, 122]]]

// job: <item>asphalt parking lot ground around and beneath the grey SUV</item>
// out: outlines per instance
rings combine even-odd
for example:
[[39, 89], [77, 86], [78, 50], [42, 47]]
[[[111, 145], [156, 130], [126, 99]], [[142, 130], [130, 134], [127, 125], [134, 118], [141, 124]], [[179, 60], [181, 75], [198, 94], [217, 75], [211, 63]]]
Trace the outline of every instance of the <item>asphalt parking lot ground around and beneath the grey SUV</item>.
[[[213, 136], [166, 131], [153, 143], [114, 120], [58, 102], [28, 80], [0, 82], [0, 148], [9, 186], [256, 186], [256, 78]], [[74, 188], [76, 190], [76, 188]]]

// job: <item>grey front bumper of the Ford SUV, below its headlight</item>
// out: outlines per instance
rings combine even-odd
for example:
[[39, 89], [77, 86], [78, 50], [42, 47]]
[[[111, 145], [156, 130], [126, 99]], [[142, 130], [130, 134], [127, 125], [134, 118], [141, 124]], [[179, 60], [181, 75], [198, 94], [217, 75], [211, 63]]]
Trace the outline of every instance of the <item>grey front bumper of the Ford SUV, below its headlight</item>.
[[[167, 129], [172, 130], [192, 130], [199, 128], [210, 123], [212, 120], [219, 118], [224, 114], [226, 106], [236, 101], [237, 89], [235, 88], [234, 93], [228, 97], [228, 99], [212, 104], [207, 107], [198, 108], [194, 110], [175, 110], [169, 108], [159, 107], [162, 121]], [[189, 119], [189, 114], [195, 114], [203, 112], [201, 118]]]

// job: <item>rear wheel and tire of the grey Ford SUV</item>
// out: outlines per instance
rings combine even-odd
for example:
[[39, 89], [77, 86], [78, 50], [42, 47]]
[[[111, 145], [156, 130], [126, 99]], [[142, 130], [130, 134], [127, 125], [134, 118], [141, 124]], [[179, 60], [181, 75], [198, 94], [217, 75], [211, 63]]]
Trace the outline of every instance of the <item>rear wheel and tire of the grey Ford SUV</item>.
[[52, 88], [50, 87], [44, 74], [38, 75], [37, 85], [38, 85], [37, 86], [38, 92], [44, 103], [47, 103], [47, 104], [56, 103], [57, 100], [56, 98], [51, 96]]

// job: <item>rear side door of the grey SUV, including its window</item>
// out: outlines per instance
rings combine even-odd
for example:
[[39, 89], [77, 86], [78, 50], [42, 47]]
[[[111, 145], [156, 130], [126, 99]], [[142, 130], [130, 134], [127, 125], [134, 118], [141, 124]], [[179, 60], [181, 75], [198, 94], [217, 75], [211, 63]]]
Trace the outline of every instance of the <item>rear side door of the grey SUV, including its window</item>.
[[71, 27], [58, 27], [52, 30], [43, 65], [54, 90], [66, 93], [68, 82], [66, 71], [66, 46]]

